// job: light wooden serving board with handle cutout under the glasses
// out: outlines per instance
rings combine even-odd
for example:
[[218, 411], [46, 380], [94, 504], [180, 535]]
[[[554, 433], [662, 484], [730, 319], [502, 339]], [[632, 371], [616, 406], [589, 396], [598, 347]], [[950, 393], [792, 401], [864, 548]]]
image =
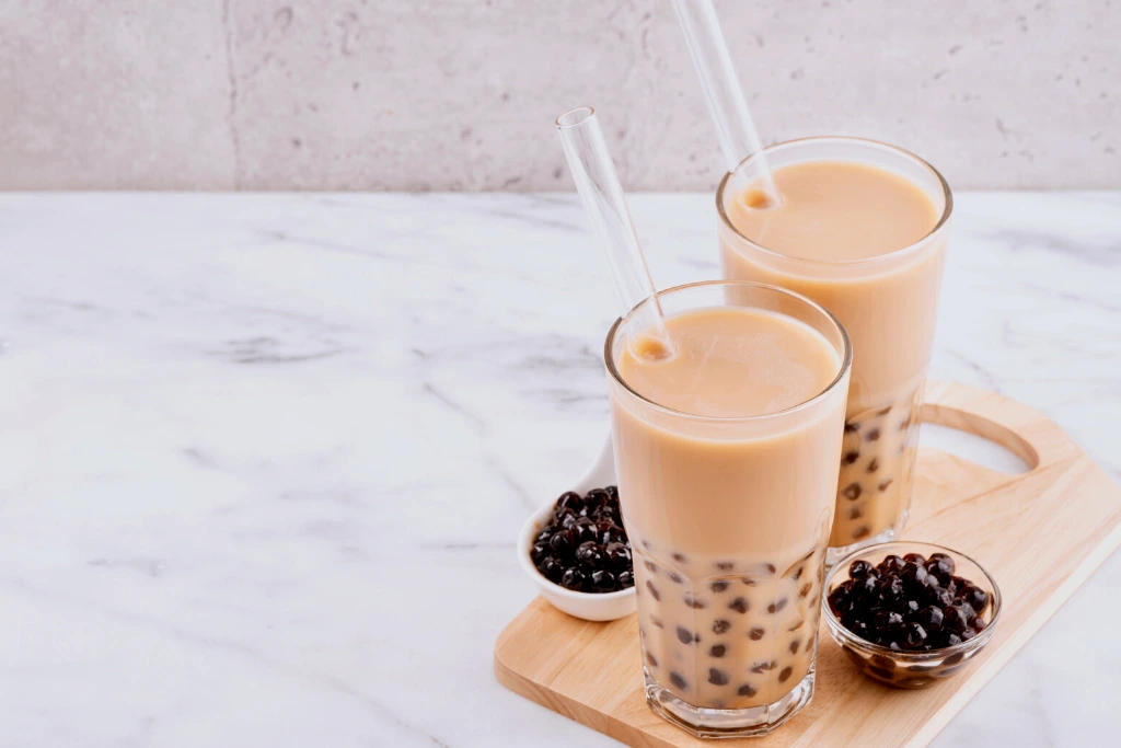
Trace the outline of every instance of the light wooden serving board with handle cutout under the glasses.
[[[920, 447], [904, 539], [976, 558], [1000, 584], [1001, 620], [960, 675], [920, 691], [861, 675], [822, 624], [817, 690], [798, 715], [763, 738], [772, 746], [924, 746], [1121, 543], [1121, 488], [1054, 423], [1000, 395], [929, 382], [923, 421], [992, 440], [1031, 470], [1008, 475]], [[646, 705], [636, 616], [594, 624], [541, 598], [494, 644], [508, 689], [634, 748], [710, 745]]]

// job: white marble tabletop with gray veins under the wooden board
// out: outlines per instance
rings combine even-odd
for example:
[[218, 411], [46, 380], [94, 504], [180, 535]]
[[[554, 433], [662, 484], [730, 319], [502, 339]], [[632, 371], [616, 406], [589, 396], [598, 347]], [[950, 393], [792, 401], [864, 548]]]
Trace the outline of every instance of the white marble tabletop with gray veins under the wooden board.
[[[711, 203], [632, 198], [659, 286]], [[1121, 194], [955, 220], [933, 375], [1121, 480]], [[574, 197], [8, 194], [0, 259], [0, 747], [618, 745], [491, 675], [605, 427]], [[1115, 555], [936, 745], [1117, 745], [1119, 620]]]

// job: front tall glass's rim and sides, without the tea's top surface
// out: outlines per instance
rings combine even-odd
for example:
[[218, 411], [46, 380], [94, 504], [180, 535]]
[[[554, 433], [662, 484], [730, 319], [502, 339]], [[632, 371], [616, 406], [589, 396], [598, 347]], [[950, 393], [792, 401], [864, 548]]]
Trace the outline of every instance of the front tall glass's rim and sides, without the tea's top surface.
[[647, 701], [696, 736], [761, 735], [814, 693], [852, 352], [832, 314], [773, 286], [711, 281], [658, 299], [667, 318], [729, 306], [777, 313], [819, 333], [837, 362], [831, 384], [794, 407], [712, 417], [665, 407], [624, 380], [618, 362], [642, 338], [640, 310], [604, 345]]

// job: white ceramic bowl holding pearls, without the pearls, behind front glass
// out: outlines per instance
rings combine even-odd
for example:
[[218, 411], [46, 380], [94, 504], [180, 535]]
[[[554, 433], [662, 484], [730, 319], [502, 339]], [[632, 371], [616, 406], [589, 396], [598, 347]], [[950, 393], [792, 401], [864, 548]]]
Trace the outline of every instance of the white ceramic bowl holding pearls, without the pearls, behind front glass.
[[[593, 488], [612, 486], [615, 482], [615, 462], [611, 452], [611, 434], [604, 440], [600, 455], [587, 469], [584, 477], [568, 486], [566, 491], [576, 491], [581, 496]], [[573, 592], [559, 584], [547, 580], [529, 557], [529, 548], [534, 544], [537, 534], [541, 532], [553, 518], [553, 507], [556, 499], [563, 491], [557, 491], [540, 509], [534, 512], [521, 527], [521, 536], [518, 538], [518, 563], [526, 571], [526, 574], [534, 580], [541, 595], [553, 606], [569, 616], [583, 618], [590, 621], [611, 621], [634, 612], [637, 602], [634, 588], [620, 590], [618, 592]]]

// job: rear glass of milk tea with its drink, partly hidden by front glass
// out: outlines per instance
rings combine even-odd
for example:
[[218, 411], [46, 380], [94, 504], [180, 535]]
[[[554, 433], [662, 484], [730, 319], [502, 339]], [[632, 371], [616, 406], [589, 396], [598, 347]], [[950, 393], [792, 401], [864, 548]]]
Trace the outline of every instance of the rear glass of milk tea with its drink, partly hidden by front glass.
[[887, 539], [910, 501], [949, 192], [920, 159], [871, 141], [812, 139], [768, 154], [780, 205], [765, 207], [742, 175], [721, 185], [723, 274], [805, 294], [849, 332], [852, 384], [830, 545]]

